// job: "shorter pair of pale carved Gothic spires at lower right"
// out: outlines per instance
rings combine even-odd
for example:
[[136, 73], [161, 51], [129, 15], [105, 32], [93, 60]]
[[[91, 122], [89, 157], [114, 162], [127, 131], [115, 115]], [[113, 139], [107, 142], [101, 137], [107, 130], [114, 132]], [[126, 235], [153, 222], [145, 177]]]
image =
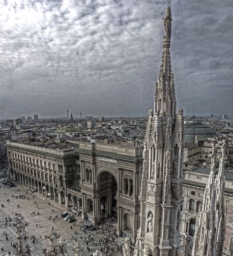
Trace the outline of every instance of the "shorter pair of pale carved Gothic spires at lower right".
[[227, 217], [227, 205], [224, 200], [225, 176], [224, 160], [227, 144], [223, 140], [222, 158], [215, 180], [217, 164], [216, 142], [212, 143], [210, 175], [204, 190], [202, 209], [197, 217], [195, 235], [193, 237], [192, 256], [222, 256]]

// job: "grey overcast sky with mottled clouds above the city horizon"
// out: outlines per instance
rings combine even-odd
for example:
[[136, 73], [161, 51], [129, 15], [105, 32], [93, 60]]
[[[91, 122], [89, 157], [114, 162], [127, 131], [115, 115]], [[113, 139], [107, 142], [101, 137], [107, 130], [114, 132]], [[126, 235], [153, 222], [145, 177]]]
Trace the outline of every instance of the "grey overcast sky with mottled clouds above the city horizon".
[[232, 0], [0, 0], [0, 118], [146, 116], [168, 4], [177, 107], [232, 115]]

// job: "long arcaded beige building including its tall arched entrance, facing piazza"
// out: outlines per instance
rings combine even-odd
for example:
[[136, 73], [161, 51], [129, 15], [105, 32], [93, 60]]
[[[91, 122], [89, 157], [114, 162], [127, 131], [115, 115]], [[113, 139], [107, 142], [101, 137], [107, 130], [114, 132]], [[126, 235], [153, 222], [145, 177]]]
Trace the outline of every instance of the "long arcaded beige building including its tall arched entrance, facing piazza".
[[136, 238], [142, 146], [80, 142], [6, 142], [10, 176], [98, 223], [116, 217], [118, 233]]

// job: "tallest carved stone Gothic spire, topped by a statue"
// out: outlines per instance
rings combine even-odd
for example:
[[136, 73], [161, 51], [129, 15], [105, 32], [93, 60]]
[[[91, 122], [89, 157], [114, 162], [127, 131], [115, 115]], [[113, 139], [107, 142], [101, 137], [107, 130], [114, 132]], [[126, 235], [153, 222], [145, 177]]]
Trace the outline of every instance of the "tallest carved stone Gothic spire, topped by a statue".
[[[166, 36], [156, 82], [154, 110], [149, 110], [144, 138], [138, 245], [144, 255], [177, 256], [183, 187], [183, 110], [176, 113], [170, 42], [172, 15], [163, 19]], [[135, 251], [137, 255], [137, 251]], [[140, 255], [142, 255], [140, 253]]]

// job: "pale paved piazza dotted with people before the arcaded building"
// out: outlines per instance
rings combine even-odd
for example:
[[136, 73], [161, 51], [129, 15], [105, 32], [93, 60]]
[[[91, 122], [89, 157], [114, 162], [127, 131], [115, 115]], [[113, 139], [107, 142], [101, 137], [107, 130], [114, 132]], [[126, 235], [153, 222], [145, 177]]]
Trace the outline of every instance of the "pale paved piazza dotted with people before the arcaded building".
[[[13, 226], [13, 223], [9, 223], [9, 221], [7, 223], [7, 226], [4, 226], [3, 223], [5, 221], [5, 218], [7, 218], [8, 216], [14, 218], [14, 213], [16, 212], [21, 213], [21, 215], [23, 215], [25, 219], [29, 222], [29, 225], [26, 226], [26, 230], [29, 232], [28, 235], [35, 236], [35, 243], [32, 243], [32, 241], [28, 239], [29, 246], [31, 247], [32, 256], [44, 255], [42, 253], [42, 248], [48, 248], [50, 246], [50, 240], [48, 238], [46, 239], [45, 236], [50, 234], [52, 227], [54, 227], [55, 230], [58, 233], [60, 233], [59, 239], [61, 239], [61, 241], [66, 241], [67, 253], [69, 256], [74, 255], [72, 251], [72, 246], [75, 243], [75, 238], [77, 238], [80, 244], [84, 246], [84, 256], [92, 256], [93, 252], [97, 250], [98, 246], [92, 246], [91, 243], [89, 244], [91, 246], [91, 252], [87, 252], [86, 243], [83, 242], [83, 239], [80, 239], [80, 234], [83, 234], [83, 232], [80, 229], [80, 226], [84, 222], [82, 217], [75, 216], [76, 221], [69, 223], [68, 221], [63, 220], [63, 218], [61, 218], [60, 216], [60, 213], [67, 211], [67, 208], [58, 204], [54, 200], [50, 200], [49, 198], [46, 198], [45, 196], [37, 192], [29, 193], [27, 191], [27, 187], [22, 185], [17, 185], [15, 187], [7, 187], [4, 186], [4, 184], [2, 183], [0, 183], [0, 185], [0, 205], [4, 205], [4, 207], [0, 207], [0, 226], [1, 224], [3, 225], [0, 230], [0, 249], [2, 247], [4, 249], [3, 252], [0, 250], [0, 256], [8, 256], [8, 252], [11, 252], [11, 255], [14, 255], [15, 253], [15, 249], [13, 249], [11, 243], [13, 244], [18, 241], [16, 235], [17, 229], [15, 226]], [[14, 195], [14, 197], [12, 195]], [[25, 199], [15, 198], [16, 196], [19, 195], [25, 195]], [[9, 199], [9, 202], [7, 202], [7, 199]], [[34, 203], [34, 201], [36, 202], [36, 204]], [[17, 205], [19, 205], [19, 207], [17, 207]], [[54, 209], [54, 212], [52, 212], [52, 209]], [[35, 211], [35, 214], [30, 215], [30, 213], [33, 211]], [[37, 212], [39, 212], [39, 215], [37, 215]], [[58, 219], [53, 221], [53, 218], [56, 215], [58, 216]], [[50, 216], [52, 216], [52, 219], [46, 219], [46, 217]], [[76, 225], [74, 225], [74, 223], [76, 223]], [[38, 225], [38, 227], [36, 227], [36, 224]], [[114, 231], [114, 226], [117, 226], [117, 223], [114, 223], [113, 227], [110, 227], [110, 232]], [[5, 239], [5, 235], [3, 234], [4, 231], [7, 232], [8, 241]], [[78, 234], [75, 235], [74, 231], [77, 231]], [[109, 235], [106, 232], [104, 234], [99, 232], [99, 234], [96, 235], [96, 230], [86, 230], [85, 238], [87, 238], [89, 233], [92, 235], [93, 239], [97, 241], [105, 237], [106, 235]], [[72, 239], [70, 239], [71, 234], [73, 234]], [[114, 236], [114, 238], [116, 237]], [[113, 242], [113, 244], [110, 245], [110, 247], [114, 247], [114, 253], [112, 254], [112, 256], [121, 255], [120, 253], [117, 252], [116, 242]]]

